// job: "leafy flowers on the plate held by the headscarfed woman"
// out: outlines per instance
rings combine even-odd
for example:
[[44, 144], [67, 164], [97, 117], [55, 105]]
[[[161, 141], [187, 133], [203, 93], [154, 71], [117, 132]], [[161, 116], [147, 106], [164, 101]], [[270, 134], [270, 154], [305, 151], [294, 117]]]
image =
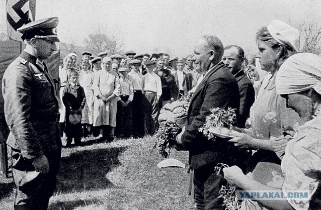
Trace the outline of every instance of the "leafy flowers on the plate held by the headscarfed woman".
[[221, 108], [212, 108], [210, 111], [212, 114], [206, 117], [204, 126], [198, 130], [199, 132], [202, 132], [207, 139], [215, 138], [215, 136], [208, 131], [209, 128], [231, 129], [235, 126], [236, 114], [234, 109], [228, 108], [227, 110], [224, 110]]

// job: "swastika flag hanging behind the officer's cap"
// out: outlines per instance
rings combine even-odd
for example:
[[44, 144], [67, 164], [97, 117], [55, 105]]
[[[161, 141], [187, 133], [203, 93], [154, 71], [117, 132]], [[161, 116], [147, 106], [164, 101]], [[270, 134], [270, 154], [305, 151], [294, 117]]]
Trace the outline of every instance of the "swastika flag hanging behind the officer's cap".
[[17, 29], [35, 20], [36, 0], [7, 0], [6, 9], [9, 38], [22, 41]]

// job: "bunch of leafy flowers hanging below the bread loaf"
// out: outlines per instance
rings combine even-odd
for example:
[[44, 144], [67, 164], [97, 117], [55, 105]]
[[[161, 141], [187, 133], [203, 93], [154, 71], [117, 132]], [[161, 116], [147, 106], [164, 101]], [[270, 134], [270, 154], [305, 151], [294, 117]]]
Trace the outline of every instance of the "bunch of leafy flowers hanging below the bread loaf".
[[165, 123], [161, 125], [156, 133], [156, 143], [153, 149], [158, 147], [159, 154], [168, 158], [171, 152], [171, 146], [176, 143], [176, 137], [181, 131], [181, 127], [176, 123]]

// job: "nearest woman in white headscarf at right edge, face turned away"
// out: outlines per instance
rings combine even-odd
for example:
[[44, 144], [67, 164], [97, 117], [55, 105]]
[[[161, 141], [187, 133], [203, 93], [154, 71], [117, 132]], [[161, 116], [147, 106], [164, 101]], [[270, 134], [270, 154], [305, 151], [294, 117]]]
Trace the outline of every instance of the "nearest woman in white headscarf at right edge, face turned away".
[[[321, 209], [321, 59], [312, 53], [291, 56], [276, 77], [277, 93], [287, 107], [305, 122], [288, 142], [282, 159], [284, 182], [279, 188], [267, 186], [242, 173], [237, 166], [224, 168], [224, 178], [243, 190], [283, 192], [286, 199], [260, 200], [269, 209]], [[307, 191], [307, 198], [288, 192]]]

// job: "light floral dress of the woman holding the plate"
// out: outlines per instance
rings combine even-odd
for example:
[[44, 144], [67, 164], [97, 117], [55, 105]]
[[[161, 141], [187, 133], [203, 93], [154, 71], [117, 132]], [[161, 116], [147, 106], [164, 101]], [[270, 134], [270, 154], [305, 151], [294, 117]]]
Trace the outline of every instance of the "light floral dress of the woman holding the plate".
[[258, 139], [270, 139], [275, 153], [280, 159], [288, 138], [284, 138], [285, 131], [296, 130], [302, 125], [298, 114], [286, 108], [286, 100], [276, 93], [276, 73], [267, 74], [250, 111], [253, 134]]

